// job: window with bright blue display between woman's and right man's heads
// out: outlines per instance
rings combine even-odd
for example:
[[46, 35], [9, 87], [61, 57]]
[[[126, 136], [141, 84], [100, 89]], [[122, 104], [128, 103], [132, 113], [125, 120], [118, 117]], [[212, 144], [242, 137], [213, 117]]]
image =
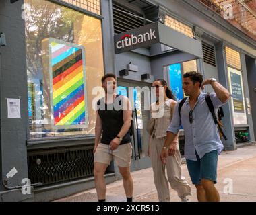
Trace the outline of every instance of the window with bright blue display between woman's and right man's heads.
[[197, 61], [191, 60], [164, 67], [164, 77], [177, 100], [183, 99], [182, 77], [184, 73], [197, 71]]

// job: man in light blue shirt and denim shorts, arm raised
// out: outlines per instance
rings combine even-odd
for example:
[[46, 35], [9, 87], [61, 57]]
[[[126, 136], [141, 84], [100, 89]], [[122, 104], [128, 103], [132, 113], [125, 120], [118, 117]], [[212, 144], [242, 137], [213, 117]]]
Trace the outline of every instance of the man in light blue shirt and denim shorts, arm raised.
[[212, 85], [214, 93], [210, 99], [214, 109], [224, 105], [230, 98], [230, 93], [216, 79], [206, 79], [197, 72], [183, 75], [183, 90], [187, 97], [179, 114], [178, 101], [168, 126], [166, 141], [162, 148], [161, 159], [164, 163], [169, 155], [174, 155], [177, 144], [173, 142], [182, 125], [185, 133], [185, 158], [192, 183], [197, 188], [199, 202], [220, 201], [220, 196], [214, 184], [217, 181], [218, 155], [223, 150], [218, 129], [205, 101], [206, 93], [201, 92], [205, 85]]

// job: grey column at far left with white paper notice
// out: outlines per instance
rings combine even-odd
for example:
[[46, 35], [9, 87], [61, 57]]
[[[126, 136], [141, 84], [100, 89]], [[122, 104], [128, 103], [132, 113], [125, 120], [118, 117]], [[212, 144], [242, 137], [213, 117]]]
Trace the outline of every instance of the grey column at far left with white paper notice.
[[[22, 201], [32, 195], [21, 189], [7, 189], [22, 185], [28, 178], [27, 146], [28, 87], [26, 73], [25, 24], [22, 15], [24, 0], [10, 3], [0, 1], [0, 30], [7, 46], [0, 48], [1, 56], [1, 181], [0, 201]], [[20, 118], [8, 118], [7, 98], [20, 99]], [[15, 168], [17, 173], [8, 175]], [[15, 175], [14, 175], [15, 173]], [[12, 177], [11, 177], [12, 176]], [[5, 183], [5, 186], [3, 185]], [[31, 190], [31, 193], [33, 191]]]

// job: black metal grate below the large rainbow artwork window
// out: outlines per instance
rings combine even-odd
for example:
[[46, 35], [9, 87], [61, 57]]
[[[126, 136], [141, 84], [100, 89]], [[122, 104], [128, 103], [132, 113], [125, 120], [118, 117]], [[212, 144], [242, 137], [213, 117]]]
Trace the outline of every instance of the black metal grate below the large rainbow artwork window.
[[88, 146], [28, 152], [28, 177], [43, 185], [90, 177], [93, 162], [93, 149]]

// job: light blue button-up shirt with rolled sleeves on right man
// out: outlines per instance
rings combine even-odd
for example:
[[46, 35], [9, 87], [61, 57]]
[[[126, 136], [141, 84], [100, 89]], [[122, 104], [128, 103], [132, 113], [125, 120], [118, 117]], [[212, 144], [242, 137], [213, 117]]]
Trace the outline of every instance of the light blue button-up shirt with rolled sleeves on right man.
[[[181, 118], [179, 116], [179, 103], [181, 100], [178, 101], [174, 109], [172, 122], [167, 128], [168, 132], [178, 134], [181, 125], [183, 126], [185, 133], [185, 158], [192, 161], [197, 161], [195, 150], [201, 159], [205, 153], [218, 149], [220, 154], [224, 148], [217, 126], [205, 101], [205, 95], [206, 93], [201, 92], [195, 103], [192, 123], [189, 122], [189, 112], [191, 110], [189, 97], [181, 107]], [[224, 105], [218, 99], [216, 93], [210, 93], [210, 98], [216, 111], [218, 107]]]

